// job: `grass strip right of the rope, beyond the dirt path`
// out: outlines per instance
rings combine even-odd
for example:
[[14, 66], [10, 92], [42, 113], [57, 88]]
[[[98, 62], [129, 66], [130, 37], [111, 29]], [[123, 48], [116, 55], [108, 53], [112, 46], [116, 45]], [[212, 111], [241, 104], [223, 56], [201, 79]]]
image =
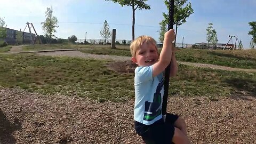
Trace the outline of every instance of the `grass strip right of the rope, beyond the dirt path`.
[[195, 50], [180, 49], [177, 60], [196, 63], [209, 63], [234, 68], [256, 68], [255, 50]]

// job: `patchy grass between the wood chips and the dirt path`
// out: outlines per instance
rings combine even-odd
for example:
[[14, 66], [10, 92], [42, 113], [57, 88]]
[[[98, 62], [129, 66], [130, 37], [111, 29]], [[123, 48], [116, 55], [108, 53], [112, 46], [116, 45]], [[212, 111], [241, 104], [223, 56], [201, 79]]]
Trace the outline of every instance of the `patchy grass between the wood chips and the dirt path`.
[[[0, 85], [31, 92], [77, 94], [99, 101], [134, 98], [134, 74], [108, 70], [105, 60], [0, 54]], [[228, 97], [244, 91], [256, 97], [256, 74], [179, 65], [170, 80], [171, 95]]]

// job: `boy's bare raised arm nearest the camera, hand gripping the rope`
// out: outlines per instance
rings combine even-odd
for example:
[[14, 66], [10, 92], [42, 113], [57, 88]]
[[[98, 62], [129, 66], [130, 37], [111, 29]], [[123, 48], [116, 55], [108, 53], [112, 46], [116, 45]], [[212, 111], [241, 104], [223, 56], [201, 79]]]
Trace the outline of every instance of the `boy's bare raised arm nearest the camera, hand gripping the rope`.
[[164, 45], [159, 56], [159, 61], [153, 65], [153, 77], [162, 73], [170, 64], [172, 57], [172, 41], [174, 41], [174, 29], [170, 29], [164, 34]]

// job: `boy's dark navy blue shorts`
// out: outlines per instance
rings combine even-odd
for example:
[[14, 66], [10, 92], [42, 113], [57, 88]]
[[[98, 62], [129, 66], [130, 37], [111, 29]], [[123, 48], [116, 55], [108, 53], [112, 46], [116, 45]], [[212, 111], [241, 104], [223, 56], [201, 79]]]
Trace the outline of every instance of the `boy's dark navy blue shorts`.
[[179, 118], [177, 115], [166, 114], [165, 122], [159, 119], [154, 124], [145, 125], [134, 122], [135, 131], [142, 137], [146, 144], [169, 144], [174, 135], [174, 123]]

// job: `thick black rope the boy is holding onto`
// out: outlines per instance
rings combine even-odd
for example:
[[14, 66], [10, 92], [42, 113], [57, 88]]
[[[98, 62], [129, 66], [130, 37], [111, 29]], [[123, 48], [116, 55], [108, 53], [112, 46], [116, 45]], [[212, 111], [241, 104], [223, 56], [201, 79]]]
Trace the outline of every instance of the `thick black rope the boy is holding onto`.
[[[174, 15], [174, 0], [170, 0], [169, 1], [168, 30], [173, 28], [173, 23], [174, 23], [173, 15]], [[171, 55], [170, 55], [170, 57], [171, 57]], [[166, 115], [167, 98], [168, 98], [168, 92], [169, 92], [170, 65], [171, 65], [171, 63], [165, 68], [162, 115]]]

